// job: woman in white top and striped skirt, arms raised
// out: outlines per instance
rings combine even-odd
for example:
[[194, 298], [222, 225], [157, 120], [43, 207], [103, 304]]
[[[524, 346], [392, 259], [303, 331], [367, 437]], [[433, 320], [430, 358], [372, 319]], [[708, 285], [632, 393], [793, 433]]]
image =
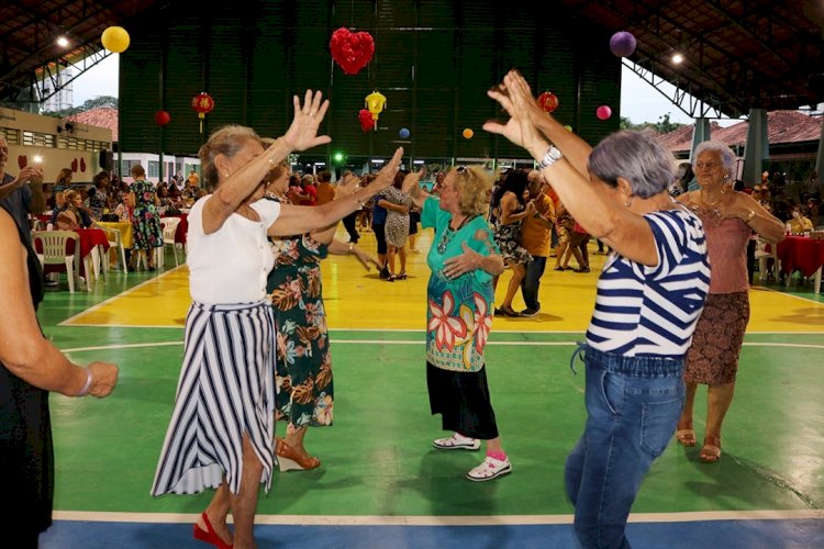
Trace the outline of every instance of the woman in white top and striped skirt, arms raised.
[[[268, 236], [307, 233], [363, 208], [398, 171], [399, 148], [378, 178], [350, 199], [320, 206], [261, 200], [267, 172], [293, 150], [331, 142], [318, 135], [329, 108], [321, 92], [294, 98], [286, 135], [264, 149], [248, 127], [231, 125], [200, 149], [212, 194], [189, 213], [187, 265], [192, 304], [186, 318], [183, 366], [153, 495], [216, 488], [193, 527], [218, 547], [256, 547], [260, 483], [271, 485], [275, 441], [275, 335], [266, 280], [274, 265]], [[234, 535], [226, 526], [232, 511]]]

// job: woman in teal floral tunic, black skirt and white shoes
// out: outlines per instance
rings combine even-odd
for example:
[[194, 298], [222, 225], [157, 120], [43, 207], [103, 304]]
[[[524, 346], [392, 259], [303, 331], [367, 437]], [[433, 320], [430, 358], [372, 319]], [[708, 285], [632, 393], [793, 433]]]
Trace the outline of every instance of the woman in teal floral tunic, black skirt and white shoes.
[[503, 272], [503, 258], [485, 219], [492, 178], [482, 167], [458, 167], [443, 179], [439, 200], [419, 184], [421, 175], [404, 178], [403, 192], [421, 208], [421, 225], [434, 227], [426, 262], [426, 385], [430, 408], [442, 415], [452, 436], [432, 444], [441, 450], [477, 450], [487, 441], [483, 461], [467, 479], [488, 481], [512, 471], [492, 410], [485, 349], [492, 328], [492, 277]]

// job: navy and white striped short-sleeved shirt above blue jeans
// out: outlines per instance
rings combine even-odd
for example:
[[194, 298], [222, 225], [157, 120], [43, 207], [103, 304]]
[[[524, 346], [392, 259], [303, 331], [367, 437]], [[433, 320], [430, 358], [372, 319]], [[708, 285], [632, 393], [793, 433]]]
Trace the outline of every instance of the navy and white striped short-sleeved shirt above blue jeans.
[[686, 209], [644, 216], [659, 261], [647, 267], [613, 255], [598, 280], [587, 343], [625, 356], [681, 358], [710, 288], [701, 220]]

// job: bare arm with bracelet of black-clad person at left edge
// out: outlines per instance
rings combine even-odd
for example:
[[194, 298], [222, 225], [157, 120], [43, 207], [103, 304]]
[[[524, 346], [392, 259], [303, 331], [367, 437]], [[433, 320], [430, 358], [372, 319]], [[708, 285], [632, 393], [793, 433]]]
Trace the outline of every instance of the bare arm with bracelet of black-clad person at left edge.
[[[14, 221], [0, 212], [0, 361], [20, 379], [46, 391], [67, 396], [105, 396], [118, 380], [118, 367], [92, 362], [89, 370], [71, 363], [43, 337], [29, 289], [25, 248]], [[87, 386], [87, 382], [89, 385]]]

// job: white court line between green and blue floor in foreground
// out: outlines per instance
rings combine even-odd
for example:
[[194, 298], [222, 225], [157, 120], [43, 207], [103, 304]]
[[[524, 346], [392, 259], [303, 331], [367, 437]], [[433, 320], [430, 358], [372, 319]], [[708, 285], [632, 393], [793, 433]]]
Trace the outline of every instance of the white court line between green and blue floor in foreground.
[[[57, 520], [98, 523], [194, 523], [200, 514], [111, 513], [55, 511]], [[698, 520], [801, 520], [824, 519], [822, 509], [699, 511], [689, 513], [632, 513], [630, 523], [693, 523]], [[575, 515], [486, 515], [486, 516], [380, 516], [380, 515], [256, 515], [256, 525], [301, 526], [511, 526], [572, 524]], [[231, 519], [229, 520], [232, 522]]]

